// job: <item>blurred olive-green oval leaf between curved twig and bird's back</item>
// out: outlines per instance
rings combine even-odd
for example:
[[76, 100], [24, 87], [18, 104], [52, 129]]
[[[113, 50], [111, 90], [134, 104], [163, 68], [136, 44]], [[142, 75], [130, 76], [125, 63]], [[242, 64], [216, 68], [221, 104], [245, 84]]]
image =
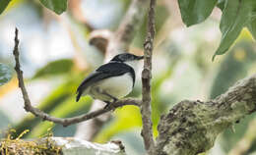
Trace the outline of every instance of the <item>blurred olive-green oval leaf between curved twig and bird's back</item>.
[[54, 62], [50, 62], [42, 69], [39, 69], [39, 71], [37, 71], [33, 78], [66, 74], [71, 71], [73, 65], [73, 61], [70, 59], [61, 59]]

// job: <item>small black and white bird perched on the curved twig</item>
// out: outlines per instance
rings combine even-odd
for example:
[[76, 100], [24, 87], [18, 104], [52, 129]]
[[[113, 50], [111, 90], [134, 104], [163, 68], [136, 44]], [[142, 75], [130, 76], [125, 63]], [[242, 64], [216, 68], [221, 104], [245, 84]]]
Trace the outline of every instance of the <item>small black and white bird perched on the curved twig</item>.
[[77, 102], [81, 96], [90, 95], [108, 106], [128, 95], [135, 83], [135, 67], [143, 56], [129, 53], [116, 55], [83, 80], [77, 89]]

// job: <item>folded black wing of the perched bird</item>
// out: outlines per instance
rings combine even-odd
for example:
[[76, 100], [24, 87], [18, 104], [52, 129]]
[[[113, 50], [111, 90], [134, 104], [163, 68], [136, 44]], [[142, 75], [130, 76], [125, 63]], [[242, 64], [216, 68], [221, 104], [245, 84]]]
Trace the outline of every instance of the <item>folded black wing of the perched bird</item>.
[[133, 85], [134, 85], [135, 72], [133, 68], [131, 68], [130, 66], [124, 63], [117, 63], [117, 62], [110, 62], [100, 66], [98, 69], [96, 69], [96, 72], [91, 74], [88, 78], [85, 78], [83, 82], [79, 85], [77, 89], [77, 93], [78, 93], [77, 102], [79, 101], [81, 95], [83, 94], [83, 91], [86, 90], [93, 83], [96, 83], [97, 81], [104, 78], [121, 76], [126, 73], [131, 74], [133, 78]]

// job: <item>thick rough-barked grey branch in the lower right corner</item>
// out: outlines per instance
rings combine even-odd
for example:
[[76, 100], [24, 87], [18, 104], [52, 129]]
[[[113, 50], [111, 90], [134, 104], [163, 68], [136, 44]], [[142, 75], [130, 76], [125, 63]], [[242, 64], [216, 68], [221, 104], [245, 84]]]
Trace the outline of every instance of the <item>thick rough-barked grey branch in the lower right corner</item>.
[[160, 118], [160, 155], [196, 155], [214, 146], [224, 129], [256, 111], [256, 75], [207, 102], [184, 100]]

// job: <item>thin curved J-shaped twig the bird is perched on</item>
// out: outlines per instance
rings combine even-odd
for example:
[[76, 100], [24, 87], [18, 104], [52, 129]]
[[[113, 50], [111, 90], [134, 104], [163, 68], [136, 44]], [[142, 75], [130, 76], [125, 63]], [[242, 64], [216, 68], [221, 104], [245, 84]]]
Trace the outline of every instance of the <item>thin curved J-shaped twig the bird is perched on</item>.
[[70, 126], [73, 124], [77, 124], [83, 121], [87, 121], [90, 119], [94, 119], [99, 115], [102, 115], [104, 113], [107, 113], [109, 111], [115, 110], [118, 107], [122, 107], [124, 105], [136, 105], [139, 106], [141, 103], [141, 100], [138, 99], [131, 99], [131, 98], [127, 98], [127, 99], [123, 99], [123, 100], [119, 100], [117, 102], [115, 102], [114, 104], [112, 104], [111, 106], [108, 106], [105, 109], [99, 109], [96, 110], [94, 112], [91, 112], [89, 114], [84, 114], [81, 116], [77, 116], [77, 117], [73, 117], [73, 118], [66, 118], [66, 119], [61, 119], [61, 118], [55, 118], [52, 117], [44, 112], [42, 112], [41, 110], [32, 107], [32, 102], [30, 100], [30, 97], [28, 95], [27, 89], [25, 87], [25, 83], [24, 83], [24, 78], [23, 78], [23, 72], [21, 71], [21, 65], [20, 65], [20, 61], [19, 61], [19, 39], [18, 39], [18, 28], [15, 29], [15, 47], [14, 47], [14, 57], [15, 57], [15, 61], [16, 61], [16, 66], [15, 66], [15, 71], [17, 72], [17, 77], [19, 80], [19, 87], [22, 89], [22, 93], [23, 93], [23, 98], [24, 98], [24, 102], [25, 102], [25, 110], [27, 112], [31, 112], [34, 116], [39, 117], [43, 120], [47, 120], [56, 124], [61, 124], [64, 127], [66, 126]]

